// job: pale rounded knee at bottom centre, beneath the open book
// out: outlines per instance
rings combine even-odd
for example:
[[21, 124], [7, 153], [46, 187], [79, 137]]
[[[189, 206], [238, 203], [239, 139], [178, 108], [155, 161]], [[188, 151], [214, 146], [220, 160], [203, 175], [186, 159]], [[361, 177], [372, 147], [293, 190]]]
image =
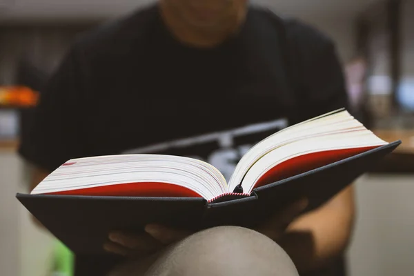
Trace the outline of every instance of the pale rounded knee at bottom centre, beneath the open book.
[[155, 262], [148, 276], [296, 276], [288, 255], [275, 242], [246, 228], [224, 226], [192, 235]]

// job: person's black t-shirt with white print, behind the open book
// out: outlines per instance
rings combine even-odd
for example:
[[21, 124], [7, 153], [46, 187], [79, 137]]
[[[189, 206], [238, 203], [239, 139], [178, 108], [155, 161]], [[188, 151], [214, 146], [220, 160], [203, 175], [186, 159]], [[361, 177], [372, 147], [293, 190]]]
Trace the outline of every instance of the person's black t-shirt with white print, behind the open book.
[[[154, 5], [88, 32], [41, 92], [19, 151], [47, 170], [93, 155], [185, 155], [228, 179], [257, 141], [348, 107], [332, 41], [297, 21], [286, 33], [282, 25], [252, 7], [234, 37], [192, 48], [172, 37]], [[286, 39], [297, 47], [294, 59], [286, 59]], [[98, 269], [108, 264], [77, 261], [77, 275], [103, 275]]]

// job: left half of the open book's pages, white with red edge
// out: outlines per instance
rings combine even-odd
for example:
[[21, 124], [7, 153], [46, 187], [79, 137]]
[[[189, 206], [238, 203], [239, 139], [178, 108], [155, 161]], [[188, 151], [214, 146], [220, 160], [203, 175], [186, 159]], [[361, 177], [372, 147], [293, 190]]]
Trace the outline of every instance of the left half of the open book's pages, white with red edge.
[[223, 175], [204, 161], [170, 155], [112, 155], [72, 159], [32, 194], [204, 197], [228, 192]]

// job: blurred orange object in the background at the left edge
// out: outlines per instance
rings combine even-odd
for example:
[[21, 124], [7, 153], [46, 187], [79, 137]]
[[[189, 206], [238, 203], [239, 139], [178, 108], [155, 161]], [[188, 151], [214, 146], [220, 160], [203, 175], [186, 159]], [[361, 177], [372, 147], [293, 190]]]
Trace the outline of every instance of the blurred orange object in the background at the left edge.
[[35, 106], [39, 93], [26, 86], [0, 86], [0, 106]]

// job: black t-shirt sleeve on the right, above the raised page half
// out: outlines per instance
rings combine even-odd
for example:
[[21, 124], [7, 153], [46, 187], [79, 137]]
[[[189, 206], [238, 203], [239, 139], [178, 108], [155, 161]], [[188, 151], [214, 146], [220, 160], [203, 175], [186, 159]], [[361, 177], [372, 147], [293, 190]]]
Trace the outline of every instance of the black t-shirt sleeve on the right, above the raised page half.
[[295, 42], [297, 90], [301, 104], [299, 120], [339, 108], [349, 109], [342, 63], [335, 43], [315, 28], [299, 22], [288, 26]]

